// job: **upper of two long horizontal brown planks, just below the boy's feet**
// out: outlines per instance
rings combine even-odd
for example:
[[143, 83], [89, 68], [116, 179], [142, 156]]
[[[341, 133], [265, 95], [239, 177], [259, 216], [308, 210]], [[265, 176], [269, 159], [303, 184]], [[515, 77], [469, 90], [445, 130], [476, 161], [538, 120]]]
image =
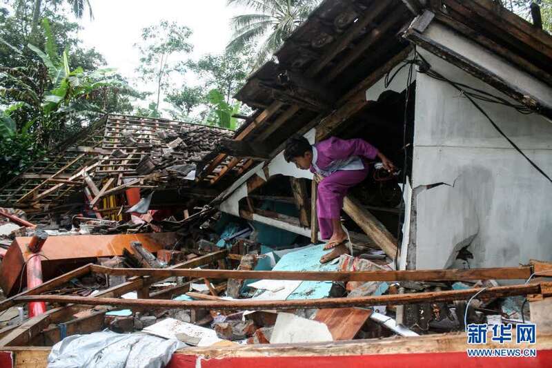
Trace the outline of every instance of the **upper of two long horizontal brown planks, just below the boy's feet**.
[[118, 276], [155, 276], [169, 278], [310, 280], [310, 281], [443, 281], [443, 280], [526, 280], [531, 267], [494, 269], [437, 269], [408, 271], [248, 271], [224, 269], [121, 269], [92, 264], [92, 272]]

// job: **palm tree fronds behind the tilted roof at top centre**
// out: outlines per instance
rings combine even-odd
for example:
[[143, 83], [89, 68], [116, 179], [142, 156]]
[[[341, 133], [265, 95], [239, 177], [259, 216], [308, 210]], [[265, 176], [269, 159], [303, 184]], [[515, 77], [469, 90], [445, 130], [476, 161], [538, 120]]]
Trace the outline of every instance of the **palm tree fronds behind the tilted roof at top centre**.
[[228, 0], [228, 5], [244, 6], [250, 14], [233, 17], [233, 39], [226, 46], [240, 50], [247, 45], [257, 46], [254, 68], [260, 66], [282, 45], [321, 0]]

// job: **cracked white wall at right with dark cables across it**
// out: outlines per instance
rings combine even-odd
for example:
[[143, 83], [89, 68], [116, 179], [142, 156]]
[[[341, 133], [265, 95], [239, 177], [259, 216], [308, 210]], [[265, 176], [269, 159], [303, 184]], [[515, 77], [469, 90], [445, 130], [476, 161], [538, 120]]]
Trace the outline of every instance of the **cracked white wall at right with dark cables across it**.
[[[484, 52], [465, 39], [453, 39], [457, 35], [447, 37], [466, 57]], [[445, 77], [506, 97], [452, 64], [418, 50]], [[503, 64], [489, 55], [484, 59], [497, 68]], [[514, 81], [532, 78], [520, 70], [509, 69], [509, 73]], [[544, 93], [533, 88], [532, 92], [552, 103], [550, 88]], [[477, 103], [552, 176], [551, 122], [506, 106]], [[552, 184], [449, 84], [419, 73], [415, 110], [413, 188], [448, 184], [421, 191], [414, 199], [417, 269], [449, 267], [455, 249], [470, 243], [474, 255], [470, 267], [516, 266], [531, 258], [552, 260]]]

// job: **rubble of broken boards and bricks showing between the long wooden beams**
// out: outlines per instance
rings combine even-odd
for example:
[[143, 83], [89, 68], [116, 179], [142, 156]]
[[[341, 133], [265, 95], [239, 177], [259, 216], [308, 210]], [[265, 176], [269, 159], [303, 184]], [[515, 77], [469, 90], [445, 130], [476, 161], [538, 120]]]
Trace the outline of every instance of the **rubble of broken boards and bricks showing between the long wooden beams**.
[[[164, 269], [179, 267], [204, 255], [226, 251], [226, 257], [206, 261], [202, 267], [219, 270], [257, 271], [392, 271], [394, 262], [377, 249], [341, 255], [334, 262], [320, 264], [323, 245], [309, 244], [295, 238], [282, 244], [262, 243], [277, 238], [254, 224], [235, 222], [215, 213], [184, 226], [177, 240], [151, 252], [141, 242], [128, 242], [123, 254], [99, 257], [97, 264], [117, 269]], [[122, 236], [122, 235], [121, 235]], [[186, 241], [183, 241], [186, 239]], [[72, 279], [52, 295], [95, 296], [132, 280], [126, 276], [94, 273]], [[235, 280], [224, 278], [166, 278], [150, 285], [149, 298], [173, 300], [323, 300], [324, 298], [358, 298], [391, 296], [399, 293], [462, 290], [495, 287], [494, 280], [471, 282], [324, 282], [300, 280]], [[173, 293], [171, 290], [175, 290]], [[124, 299], [144, 298], [133, 291]], [[317, 342], [381, 338], [386, 336], [418, 336], [421, 334], [463, 331], [465, 322], [518, 323], [529, 320], [528, 310], [522, 313], [524, 298], [476, 298], [466, 301], [426, 302], [404, 307], [387, 305], [370, 308], [297, 309], [295, 311], [246, 311], [216, 309], [120, 309], [94, 307], [87, 313], [103, 313], [98, 329], [115, 333], [141, 331], [163, 338], [175, 338], [187, 346], [219, 344], [256, 345], [269, 343]], [[404, 308], [402, 323], [397, 323], [398, 310]], [[467, 313], [466, 313], [467, 308]], [[5, 324], [26, 318], [23, 307], [8, 309]], [[464, 321], [466, 316], [466, 321]], [[1, 321], [0, 321], [1, 322]], [[52, 326], [52, 328], [54, 328]]]

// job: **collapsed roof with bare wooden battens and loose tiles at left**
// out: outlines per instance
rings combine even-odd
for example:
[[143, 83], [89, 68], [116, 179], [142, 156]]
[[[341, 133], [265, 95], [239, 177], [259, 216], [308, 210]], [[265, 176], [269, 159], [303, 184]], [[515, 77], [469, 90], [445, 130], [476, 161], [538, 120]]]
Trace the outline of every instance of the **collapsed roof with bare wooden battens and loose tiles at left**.
[[[92, 178], [92, 184], [95, 182], [101, 189], [108, 179], [115, 188], [127, 180], [144, 185], [149, 178], [159, 187], [186, 186], [193, 182], [171, 180], [174, 179], [171, 174], [177, 171], [171, 173], [167, 168], [193, 167], [215, 148], [219, 139], [232, 135], [232, 130], [213, 126], [106, 115], [0, 188], [0, 204], [24, 209], [30, 215], [67, 211], [72, 204], [63, 202], [81, 193], [86, 181]], [[151, 167], [144, 164], [148, 157]], [[115, 188], [106, 187], [103, 192]], [[98, 193], [92, 195], [97, 197]], [[80, 204], [82, 197], [76, 202]]]

